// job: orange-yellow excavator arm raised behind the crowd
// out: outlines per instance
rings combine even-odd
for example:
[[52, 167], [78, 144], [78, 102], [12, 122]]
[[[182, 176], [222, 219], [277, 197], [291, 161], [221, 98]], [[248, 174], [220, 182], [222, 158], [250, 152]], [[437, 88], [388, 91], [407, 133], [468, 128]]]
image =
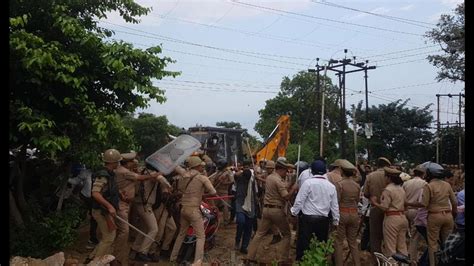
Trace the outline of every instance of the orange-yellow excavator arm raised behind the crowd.
[[282, 115], [278, 118], [277, 125], [270, 136], [266, 139], [263, 147], [256, 153], [256, 161], [273, 160], [275, 154], [278, 157], [286, 156], [286, 148], [290, 141], [290, 116]]

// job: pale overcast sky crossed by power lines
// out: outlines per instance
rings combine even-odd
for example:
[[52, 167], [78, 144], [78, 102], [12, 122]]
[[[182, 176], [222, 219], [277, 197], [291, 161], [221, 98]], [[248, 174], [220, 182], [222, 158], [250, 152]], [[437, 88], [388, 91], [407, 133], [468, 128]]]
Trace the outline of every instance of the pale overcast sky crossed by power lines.
[[[436, 119], [435, 95], [464, 88], [436, 81], [437, 69], [426, 57], [440, 47], [423, 36], [459, 0], [136, 2], [152, 7], [140, 24], [110, 13], [100, 25], [140, 49], [161, 45], [162, 56], [176, 61], [166, 70], [181, 75], [155, 83], [166, 91], [166, 102], [138, 112], [166, 115], [179, 127], [234, 121], [259, 137], [254, 126], [265, 101], [277, 95], [283, 77], [315, 68], [316, 58], [324, 65], [355, 56], [376, 66], [368, 73], [370, 106], [410, 99], [410, 108], [432, 104]], [[334, 72], [328, 76], [337, 84]], [[346, 108], [360, 101], [365, 107], [363, 71], [346, 76]], [[457, 121], [458, 108], [457, 97], [441, 97], [441, 123]]]

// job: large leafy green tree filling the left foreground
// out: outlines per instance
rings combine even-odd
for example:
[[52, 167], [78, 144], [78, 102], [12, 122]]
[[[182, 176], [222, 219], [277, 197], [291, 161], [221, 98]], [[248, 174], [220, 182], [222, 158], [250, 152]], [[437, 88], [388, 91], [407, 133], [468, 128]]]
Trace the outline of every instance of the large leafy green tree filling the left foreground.
[[20, 147], [11, 191], [22, 215], [32, 176], [27, 148], [55, 162], [50, 174], [58, 183], [72, 162], [97, 166], [106, 148], [132, 149], [121, 117], [163, 102], [152, 81], [178, 74], [164, 70], [173, 61], [160, 56], [160, 46], [141, 50], [108, 39], [113, 32], [97, 23], [111, 11], [138, 23], [150, 9], [129, 0], [10, 1], [9, 148]]

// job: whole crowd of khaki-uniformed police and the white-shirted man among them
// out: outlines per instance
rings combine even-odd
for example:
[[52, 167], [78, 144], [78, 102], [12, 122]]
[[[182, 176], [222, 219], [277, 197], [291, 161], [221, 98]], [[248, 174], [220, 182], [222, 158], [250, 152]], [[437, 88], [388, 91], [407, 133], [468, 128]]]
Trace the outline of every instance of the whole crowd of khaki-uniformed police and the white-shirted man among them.
[[[260, 247], [277, 243], [275, 259], [292, 264], [303, 260], [312, 238], [333, 237], [335, 265], [347, 262], [347, 241], [351, 265], [361, 265], [360, 251], [366, 250], [433, 266], [440, 243], [453, 230], [464, 230], [462, 166], [426, 162], [405, 169], [384, 157], [375, 167], [346, 159], [290, 164], [284, 157], [241, 164], [197, 153], [163, 175], [141, 164], [136, 152], [115, 149], [103, 153], [103, 162], [99, 171], [76, 173], [84, 180], [81, 198], [91, 215], [93, 250], [85, 263], [106, 254], [123, 265], [160, 258], [179, 262], [189, 226], [196, 234], [193, 262], [203, 262], [200, 206], [210, 196], [217, 198], [212, 204], [223, 224], [236, 224], [235, 249], [247, 264], [257, 263]], [[262, 243], [269, 234], [272, 241]], [[422, 239], [428, 248], [420, 256]], [[296, 258], [290, 256], [292, 246]]]

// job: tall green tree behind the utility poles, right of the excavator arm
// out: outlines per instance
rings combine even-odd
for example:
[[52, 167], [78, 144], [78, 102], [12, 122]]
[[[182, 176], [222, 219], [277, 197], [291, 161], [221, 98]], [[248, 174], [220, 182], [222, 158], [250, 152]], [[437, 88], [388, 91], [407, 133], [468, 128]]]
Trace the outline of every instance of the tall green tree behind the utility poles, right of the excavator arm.
[[[321, 75], [321, 86], [323, 78]], [[312, 157], [311, 160], [319, 156], [321, 103], [316, 81], [314, 73], [305, 71], [297, 73], [292, 79], [284, 77], [280, 85], [280, 92], [275, 98], [266, 101], [265, 108], [259, 111], [260, 119], [255, 125], [255, 130], [265, 139], [275, 128], [278, 117], [290, 113], [290, 144], [309, 147], [311, 155], [305, 156]], [[324, 127], [327, 131], [327, 129], [340, 127], [339, 119], [335, 119], [339, 117], [340, 109], [338, 107], [338, 88], [332, 85], [330, 78], [325, 80], [325, 84]], [[339, 154], [339, 150], [335, 146], [338, 137], [338, 130], [333, 130], [330, 135], [325, 135], [324, 157], [329, 160]], [[307, 153], [306, 150], [305, 153]]]

